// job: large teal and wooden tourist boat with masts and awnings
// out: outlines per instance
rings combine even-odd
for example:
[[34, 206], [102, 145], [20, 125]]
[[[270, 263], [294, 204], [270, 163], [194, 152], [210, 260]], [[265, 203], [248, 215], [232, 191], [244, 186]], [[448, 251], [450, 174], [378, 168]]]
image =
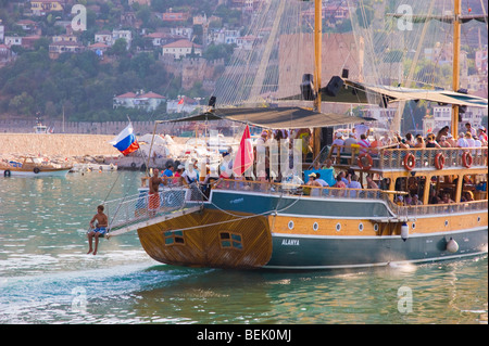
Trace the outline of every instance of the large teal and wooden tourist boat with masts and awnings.
[[[460, 2], [456, 0], [455, 4], [457, 18]], [[315, 9], [319, 18], [316, 24], [319, 24], [321, 1], [316, 1]], [[454, 22], [459, 26], [459, 21]], [[321, 26], [317, 31], [321, 33]], [[460, 44], [456, 33], [460, 35], [460, 28], [455, 29], [455, 44]], [[456, 48], [454, 52], [457, 53]], [[456, 76], [457, 64], [454, 65]], [[453, 105], [455, 138], [459, 106], [487, 106], [487, 99], [468, 100], [468, 95], [465, 98], [460, 92], [373, 88], [340, 79], [340, 88], [356, 86], [355, 92], [376, 93], [389, 102], [410, 98], [448, 100]], [[323, 115], [323, 89], [317, 75], [316, 81], [314, 111], [275, 108], [239, 113], [234, 110], [233, 116], [215, 110], [204, 116], [272, 129], [286, 128], [285, 124], [292, 128], [321, 128], [360, 121], [355, 117], [336, 117], [335, 123]], [[457, 89], [457, 78], [454, 78], [453, 90]], [[127, 210], [112, 218], [115, 221], [110, 234], [137, 229], [145, 251], [164, 264], [234, 269], [358, 268], [487, 253], [487, 146], [381, 148], [367, 149], [360, 155], [353, 151], [329, 157], [337, 170], [351, 169], [360, 181], [365, 181], [368, 175], [379, 188], [318, 188], [246, 179], [218, 179], [210, 191], [195, 184], [167, 185], [160, 191], [161, 207], [152, 217], [146, 214], [147, 190], [142, 188], [133, 200], [108, 204], [109, 210]], [[318, 172], [329, 179], [333, 176], [328, 169]], [[306, 170], [303, 177], [309, 174]], [[419, 204], [399, 203], [408, 195], [417, 195]], [[435, 195], [446, 200], [434, 204]]]

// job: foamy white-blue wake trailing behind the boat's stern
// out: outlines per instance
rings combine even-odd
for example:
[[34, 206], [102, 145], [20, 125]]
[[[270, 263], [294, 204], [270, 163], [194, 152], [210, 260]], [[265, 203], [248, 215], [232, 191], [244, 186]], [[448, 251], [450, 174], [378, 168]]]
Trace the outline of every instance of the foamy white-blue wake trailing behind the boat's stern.
[[[196, 275], [196, 270], [154, 266], [152, 261], [88, 270], [2, 278], [0, 323], [111, 323], [104, 312], [116, 311], [112, 322], [131, 321], [130, 306], [141, 294], [164, 289], [175, 281]], [[128, 304], [117, 310], [118, 302]]]

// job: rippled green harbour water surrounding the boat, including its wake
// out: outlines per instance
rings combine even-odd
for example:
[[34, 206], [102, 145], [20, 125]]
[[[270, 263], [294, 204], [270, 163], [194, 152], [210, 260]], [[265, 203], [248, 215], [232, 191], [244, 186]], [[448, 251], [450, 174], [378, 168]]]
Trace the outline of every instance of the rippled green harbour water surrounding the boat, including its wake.
[[[140, 174], [0, 179], [0, 323], [487, 323], [487, 256], [355, 271], [161, 265], [136, 234], [86, 255], [105, 198]], [[114, 183], [115, 182], [115, 183]], [[412, 293], [400, 312], [398, 291]]]

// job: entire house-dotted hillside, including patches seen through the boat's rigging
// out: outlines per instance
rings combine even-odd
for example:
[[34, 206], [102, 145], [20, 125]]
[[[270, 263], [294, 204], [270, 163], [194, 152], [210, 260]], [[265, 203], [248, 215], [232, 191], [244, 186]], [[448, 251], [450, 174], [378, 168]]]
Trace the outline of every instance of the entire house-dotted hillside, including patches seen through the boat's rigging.
[[[127, 116], [147, 121], [198, 112], [208, 104], [231, 54], [252, 49], [248, 27], [263, 1], [0, 0], [0, 121], [42, 117], [52, 124], [101, 123]], [[364, 52], [354, 46], [350, 18], [369, 11], [373, 15], [391, 1], [365, 0], [362, 11], [351, 13], [349, 4], [359, 1], [323, 2], [323, 55], [329, 59], [323, 67], [325, 81], [344, 65], [350, 65], [352, 78], [361, 79]], [[476, 11], [480, 3], [472, 2]], [[308, 18], [311, 13], [301, 15]], [[452, 55], [450, 46], [441, 43], [423, 48], [416, 74], [437, 64], [432, 78], [443, 85], [450, 82]], [[303, 50], [301, 44], [293, 35], [281, 38], [279, 85], [296, 79], [290, 72], [299, 66], [288, 52]], [[397, 51], [388, 53], [394, 56]], [[487, 29], [474, 26], [463, 37], [461, 81], [471, 93], [486, 98], [487, 53]], [[392, 60], [383, 68], [408, 69]], [[386, 121], [393, 111], [362, 112]], [[437, 112], [412, 104], [404, 110], [404, 125], [421, 128], [425, 115]], [[474, 115], [478, 121], [482, 116]]]

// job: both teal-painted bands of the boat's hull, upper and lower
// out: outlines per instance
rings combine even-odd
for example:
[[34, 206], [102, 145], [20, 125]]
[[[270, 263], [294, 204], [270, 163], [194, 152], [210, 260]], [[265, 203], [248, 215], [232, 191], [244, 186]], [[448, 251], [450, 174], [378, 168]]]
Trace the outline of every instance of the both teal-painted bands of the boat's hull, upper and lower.
[[[218, 191], [209, 208], [256, 215], [283, 215], [321, 218], [393, 219], [384, 201], [300, 198], [256, 193]], [[426, 262], [476, 256], [487, 253], [488, 227], [477, 229], [400, 235], [334, 236], [272, 233], [273, 252], [266, 268], [334, 269], [386, 266], [391, 262]], [[447, 251], [453, 238], [456, 253]]]

